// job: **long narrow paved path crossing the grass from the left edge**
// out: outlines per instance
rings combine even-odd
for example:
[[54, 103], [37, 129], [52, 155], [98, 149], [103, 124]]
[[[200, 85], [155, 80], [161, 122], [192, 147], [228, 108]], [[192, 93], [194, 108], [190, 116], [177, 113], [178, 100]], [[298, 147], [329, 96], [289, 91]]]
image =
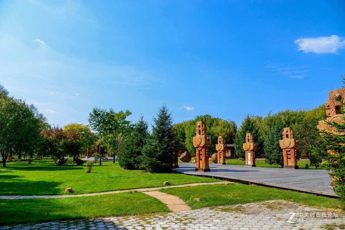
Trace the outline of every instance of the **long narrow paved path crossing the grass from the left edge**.
[[194, 183], [194, 184], [186, 184], [186, 185], [174, 185], [174, 186], [157, 187], [157, 188], [138, 188], [138, 189], [118, 190], [118, 191], [110, 191], [110, 192], [97, 192], [97, 193], [79, 194], [79, 195], [52, 195], [52, 196], [2, 196], [0, 195], [0, 199], [13, 200], [13, 199], [30, 199], [30, 198], [86, 197], [86, 196], [114, 194], [114, 193], [129, 192], [129, 191], [147, 192], [147, 191], [156, 191], [156, 190], [165, 189], [165, 188], [178, 188], [178, 187], [198, 186], [198, 185], [215, 185], [215, 184], [224, 184], [224, 183], [229, 183], [229, 182], [221, 181], [221, 182], [209, 182], [209, 183]]

